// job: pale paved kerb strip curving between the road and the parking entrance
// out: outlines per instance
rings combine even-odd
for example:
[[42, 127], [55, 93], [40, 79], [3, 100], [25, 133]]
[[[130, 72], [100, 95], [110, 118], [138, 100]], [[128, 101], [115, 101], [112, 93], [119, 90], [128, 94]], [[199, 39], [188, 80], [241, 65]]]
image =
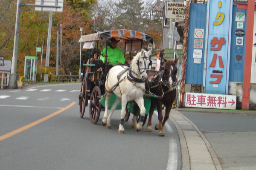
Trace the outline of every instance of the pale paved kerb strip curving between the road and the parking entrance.
[[256, 111], [218, 110], [199, 108], [176, 108], [169, 118], [174, 123], [180, 137], [182, 155], [181, 170], [223, 170], [215, 151], [198, 127], [180, 112], [203, 112], [236, 115], [256, 115]]

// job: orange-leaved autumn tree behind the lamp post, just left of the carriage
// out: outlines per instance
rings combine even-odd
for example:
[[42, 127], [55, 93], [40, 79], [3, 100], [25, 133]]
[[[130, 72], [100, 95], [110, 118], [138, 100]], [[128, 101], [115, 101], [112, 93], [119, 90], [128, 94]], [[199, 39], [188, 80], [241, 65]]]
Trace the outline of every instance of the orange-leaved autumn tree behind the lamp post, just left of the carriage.
[[90, 34], [90, 6], [95, 4], [96, 0], [67, 0], [67, 4], [62, 13], [55, 16], [54, 29], [59, 30], [59, 24], [62, 24], [62, 50], [61, 50], [61, 68], [65, 74], [73, 72], [73, 67], [79, 65], [80, 54], [80, 27], [83, 27], [82, 34]]

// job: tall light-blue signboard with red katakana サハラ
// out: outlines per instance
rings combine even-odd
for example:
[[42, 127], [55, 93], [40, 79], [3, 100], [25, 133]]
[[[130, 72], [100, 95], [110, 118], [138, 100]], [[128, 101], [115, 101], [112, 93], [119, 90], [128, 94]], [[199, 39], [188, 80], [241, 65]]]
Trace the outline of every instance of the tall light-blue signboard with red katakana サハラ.
[[[208, 1], [207, 59], [205, 93], [227, 94], [230, 65], [232, 1]], [[241, 38], [241, 37], [239, 37]], [[243, 43], [243, 40], [238, 40]]]

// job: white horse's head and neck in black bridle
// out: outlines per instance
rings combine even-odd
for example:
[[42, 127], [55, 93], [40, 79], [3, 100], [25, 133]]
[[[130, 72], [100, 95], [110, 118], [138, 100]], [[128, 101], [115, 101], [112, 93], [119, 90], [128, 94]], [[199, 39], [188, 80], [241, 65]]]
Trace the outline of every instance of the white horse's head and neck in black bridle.
[[151, 65], [150, 60], [151, 50], [141, 50], [136, 56], [133, 57], [130, 63], [131, 70], [137, 75], [137, 78], [148, 79], [147, 70]]

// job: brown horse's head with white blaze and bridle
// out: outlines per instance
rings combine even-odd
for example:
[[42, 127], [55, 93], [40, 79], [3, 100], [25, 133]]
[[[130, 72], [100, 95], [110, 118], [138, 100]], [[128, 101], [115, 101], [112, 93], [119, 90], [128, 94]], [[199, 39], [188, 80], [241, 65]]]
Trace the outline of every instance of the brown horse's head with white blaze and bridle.
[[163, 81], [167, 82], [170, 87], [177, 84], [177, 67], [176, 63], [178, 62], [177, 59], [165, 59], [163, 58], [163, 66], [161, 66], [160, 70], [163, 71]]

